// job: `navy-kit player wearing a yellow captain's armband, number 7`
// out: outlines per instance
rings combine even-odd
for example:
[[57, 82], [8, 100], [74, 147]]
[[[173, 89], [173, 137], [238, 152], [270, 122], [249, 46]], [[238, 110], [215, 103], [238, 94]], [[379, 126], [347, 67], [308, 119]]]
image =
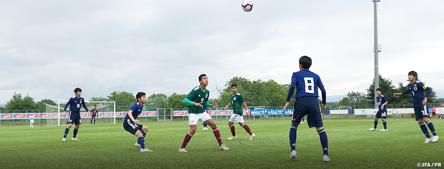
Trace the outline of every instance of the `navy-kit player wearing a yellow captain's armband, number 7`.
[[[416, 121], [418, 121], [422, 132], [424, 133], [425, 137], [427, 137], [424, 143], [436, 142], [440, 137], [436, 134], [435, 127], [433, 127], [432, 121], [430, 121], [427, 108], [427, 98], [430, 96], [430, 93], [432, 93], [432, 88], [429, 88], [424, 83], [418, 81], [418, 73], [415, 71], [410, 71], [408, 73], [408, 81], [410, 81], [407, 86], [408, 89], [402, 93], [393, 93], [393, 96], [399, 96], [407, 93], [412, 95]], [[427, 92], [425, 96], [424, 91]], [[428, 133], [427, 127], [425, 126], [426, 124], [430, 131], [432, 131], [433, 138]]]

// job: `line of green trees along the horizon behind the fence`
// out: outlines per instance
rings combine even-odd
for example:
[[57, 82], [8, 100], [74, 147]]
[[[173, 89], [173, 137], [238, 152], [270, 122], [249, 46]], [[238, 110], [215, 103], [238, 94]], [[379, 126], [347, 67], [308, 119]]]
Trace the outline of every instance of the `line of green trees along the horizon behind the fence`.
[[[411, 104], [412, 98], [409, 95], [401, 95], [399, 97], [393, 96], [394, 92], [403, 92], [407, 89], [407, 83], [405, 85], [399, 82], [397, 86], [392, 84], [389, 78], [382, 78], [379, 76], [380, 88], [383, 90], [382, 94], [387, 97], [389, 104]], [[238, 85], [238, 92], [241, 93], [246, 100], [248, 106], [265, 106], [265, 107], [282, 107], [285, 104], [288, 89], [290, 84], [278, 84], [274, 80], [269, 81], [250, 81], [242, 77], [233, 77], [230, 81], [227, 81], [224, 88], [212, 92], [210, 89], [210, 95], [218, 95], [217, 99], [210, 99], [209, 102], [217, 102], [219, 107], [224, 107], [230, 102], [231, 84]], [[191, 88], [190, 88], [191, 89]], [[296, 91], [295, 91], [296, 92]], [[328, 92], [328, 91], [327, 91]], [[187, 94], [173, 93], [170, 96], [166, 96], [162, 93], [152, 94], [147, 96], [147, 103], [145, 104], [147, 110], [155, 110], [157, 108], [187, 108], [186, 104], [182, 103]], [[293, 98], [290, 100], [290, 105], [294, 104]], [[345, 105], [372, 105], [374, 104], [374, 80], [367, 88], [366, 93], [362, 92], [349, 92], [347, 97], [343, 98], [339, 102], [327, 103], [330, 106], [345, 106]], [[131, 92], [112, 92], [107, 97], [92, 97], [89, 101], [115, 101], [116, 111], [126, 111], [131, 104], [136, 102], [136, 99]], [[321, 102], [321, 100], [319, 100]], [[328, 101], [328, 98], [327, 98]], [[432, 89], [432, 94], [428, 98], [429, 103], [443, 103], [442, 99], [436, 99], [436, 92]], [[43, 110], [46, 111], [46, 104], [56, 105], [53, 100], [44, 99], [41, 101], [34, 101], [31, 96], [23, 97], [21, 94], [12, 96], [12, 99], [8, 101], [4, 108], [0, 107], [0, 110]], [[17, 111], [18, 112], [18, 111]]]

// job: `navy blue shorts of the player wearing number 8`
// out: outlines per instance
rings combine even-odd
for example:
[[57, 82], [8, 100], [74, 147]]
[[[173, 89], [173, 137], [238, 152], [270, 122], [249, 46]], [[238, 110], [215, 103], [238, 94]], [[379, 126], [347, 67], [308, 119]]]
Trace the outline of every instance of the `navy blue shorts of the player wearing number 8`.
[[294, 101], [293, 124], [299, 125], [302, 117], [307, 115], [308, 127], [323, 127], [321, 108], [316, 97], [300, 97]]

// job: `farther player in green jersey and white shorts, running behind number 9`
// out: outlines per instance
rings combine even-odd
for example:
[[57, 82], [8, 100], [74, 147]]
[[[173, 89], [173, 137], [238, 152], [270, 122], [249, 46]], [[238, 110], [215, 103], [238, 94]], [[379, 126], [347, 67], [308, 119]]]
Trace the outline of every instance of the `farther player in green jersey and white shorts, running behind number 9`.
[[243, 111], [242, 111], [242, 105], [245, 108], [245, 111], [247, 111], [247, 116], [250, 117], [250, 112], [248, 111], [247, 104], [245, 103], [244, 96], [241, 95], [241, 93], [238, 93], [238, 85], [231, 84], [231, 92], [233, 92], [232, 95], [230, 95], [230, 103], [225, 106], [225, 110], [233, 106], [233, 115], [231, 115], [230, 119], [228, 120], [228, 126], [231, 130], [231, 136], [228, 138], [228, 140], [232, 140], [234, 138], [237, 138], [236, 132], [234, 131], [234, 123], [239, 123], [241, 127], [244, 127], [245, 131], [247, 131], [248, 134], [250, 134], [250, 140], [252, 140], [256, 134], [251, 132], [250, 127], [248, 127], [245, 124]]

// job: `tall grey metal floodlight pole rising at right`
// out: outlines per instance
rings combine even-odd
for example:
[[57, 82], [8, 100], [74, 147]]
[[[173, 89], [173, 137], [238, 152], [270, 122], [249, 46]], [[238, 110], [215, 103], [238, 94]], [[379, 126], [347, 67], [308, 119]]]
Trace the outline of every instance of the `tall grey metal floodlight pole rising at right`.
[[377, 2], [381, 0], [373, 0], [374, 5], [374, 19], [375, 19], [375, 45], [373, 46], [373, 52], [375, 53], [375, 108], [378, 108], [378, 102], [376, 100], [376, 89], [379, 88], [379, 70], [378, 70], [378, 53], [381, 52], [381, 45], [378, 45], [378, 15], [377, 15]]

